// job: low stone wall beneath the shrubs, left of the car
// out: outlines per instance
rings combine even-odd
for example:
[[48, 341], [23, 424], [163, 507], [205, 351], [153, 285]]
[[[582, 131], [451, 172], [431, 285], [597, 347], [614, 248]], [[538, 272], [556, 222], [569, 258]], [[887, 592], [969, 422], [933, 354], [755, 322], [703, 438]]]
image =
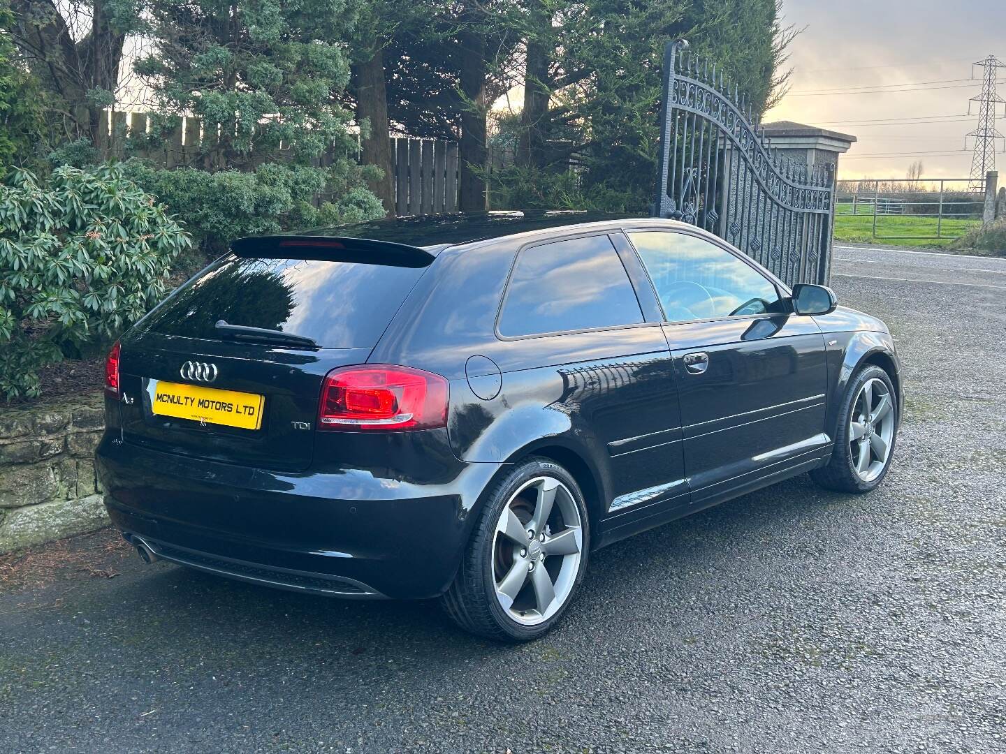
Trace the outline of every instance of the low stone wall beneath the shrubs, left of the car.
[[95, 478], [102, 401], [0, 405], [0, 553], [108, 525]]

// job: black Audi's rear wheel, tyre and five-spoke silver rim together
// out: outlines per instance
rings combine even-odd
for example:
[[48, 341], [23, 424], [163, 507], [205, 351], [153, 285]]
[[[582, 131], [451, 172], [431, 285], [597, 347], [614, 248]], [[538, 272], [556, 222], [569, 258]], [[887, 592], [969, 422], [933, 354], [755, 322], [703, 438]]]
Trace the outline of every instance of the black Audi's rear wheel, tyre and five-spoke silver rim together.
[[586, 506], [572, 476], [545, 458], [522, 461], [490, 492], [444, 607], [488, 638], [544, 635], [583, 580], [589, 544]]

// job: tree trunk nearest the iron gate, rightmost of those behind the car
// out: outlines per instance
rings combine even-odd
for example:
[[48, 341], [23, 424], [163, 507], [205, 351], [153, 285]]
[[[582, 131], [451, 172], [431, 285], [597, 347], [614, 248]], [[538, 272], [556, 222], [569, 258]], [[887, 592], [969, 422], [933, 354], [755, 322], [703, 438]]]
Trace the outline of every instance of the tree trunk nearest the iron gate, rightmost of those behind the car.
[[545, 134], [551, 99], [548, 63], [552, 43], [552, 19], [543, 0], [532, 0], [530, 20], [533, 32], [527, 40], [524, 109], [520, 116], [517, 163], [527, 168], [541, 168], [547, 162]]

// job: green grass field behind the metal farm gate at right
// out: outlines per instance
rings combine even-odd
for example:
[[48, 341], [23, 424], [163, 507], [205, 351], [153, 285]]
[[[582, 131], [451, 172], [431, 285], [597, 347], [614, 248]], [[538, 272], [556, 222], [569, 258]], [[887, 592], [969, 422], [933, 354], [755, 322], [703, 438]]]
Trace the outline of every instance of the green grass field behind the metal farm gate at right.
[[981, 225], [980, 217], [944, 217], [940, 223], [941, 238], [937, 238], [937, 218], [931, 215], [877, 215], [876, 237], [873, 236], [872, 207], [859, 207], [852, 214], [852, 204], [841, 202], [835, 207], [835, 240], [847, 243], [891, 243], [898, 246], [948, 248], [968, 230]]

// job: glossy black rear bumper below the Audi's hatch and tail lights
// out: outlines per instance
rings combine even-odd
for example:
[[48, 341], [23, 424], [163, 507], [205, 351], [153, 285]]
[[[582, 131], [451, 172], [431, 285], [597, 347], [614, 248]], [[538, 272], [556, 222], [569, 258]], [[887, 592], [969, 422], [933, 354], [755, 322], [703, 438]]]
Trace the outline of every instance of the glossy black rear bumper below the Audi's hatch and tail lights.
[[440, 457], [431, 464], [436, 484], [388, 469], [278, 474], [151, 450], [115, 434], [99, 446], [98, 472], [127, 540], [218, 575], [349, 598], [446, 590], [473, 506], [499, 467]]

